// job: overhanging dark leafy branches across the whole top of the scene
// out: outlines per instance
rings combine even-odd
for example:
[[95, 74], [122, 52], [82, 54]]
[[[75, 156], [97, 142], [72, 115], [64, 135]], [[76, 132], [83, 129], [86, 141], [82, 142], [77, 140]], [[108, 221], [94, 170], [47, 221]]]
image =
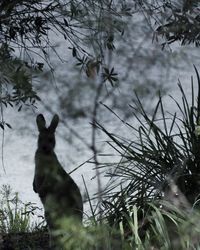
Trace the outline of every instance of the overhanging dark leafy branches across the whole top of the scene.
[[[105, 53], [115, 49], [116, 37], [124, 35], [132, 13], [137, 14], [141, 9], [146, 13], [151, 11], [158, 26], [157, 33], [164, 35], [168, 42], [181, 40], [183, 44], [198, 45], [199, 16], [193, 13], [195, 8], [198, 10], [197, 1], [186, 1], [182, 12], [166, 1], [160, 4], [135, 1], [134, 7], [126, 0], [1, 1], [1, 108], [13, 103], [19, 111], [24, 104], [35, 107], [39, 100], [33, 86], [35, 71], [42, 71], [44, 61], [51, 67], [49, 48], [57, 54], [52, 35], [67, 41], [66, 49], [71, 50], [77, 65], [88, 77], [94, 76], [102, 66], [103, 80], [113, 86], [117, 73], [106, 65]], [[164, 16], [166, 21], [158, 16]], [[16, 53], [20, 53], [20, 60], [16, 59]], [[34, 54], [42, 62], [35, 61]], [[2, 117], [1, 127], [4, 125]]]

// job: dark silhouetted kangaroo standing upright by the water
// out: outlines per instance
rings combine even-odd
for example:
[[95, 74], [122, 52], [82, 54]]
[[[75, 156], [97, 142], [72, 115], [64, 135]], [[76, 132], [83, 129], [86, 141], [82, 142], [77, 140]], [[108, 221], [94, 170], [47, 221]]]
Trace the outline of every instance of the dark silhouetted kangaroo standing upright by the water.
[[54, 152], [59, 116], [54, 115], [50, 126], [46, 127], [44, 116], [39, 114], [36, 123], [39, 137], [35, 153], [33, 190], [39, 194], [44, 206], [47, 225], [50, 231], [54, 230], [58, 220], [66, 217], [82, 222], [83, 202], [80, 190], [65, 172]]

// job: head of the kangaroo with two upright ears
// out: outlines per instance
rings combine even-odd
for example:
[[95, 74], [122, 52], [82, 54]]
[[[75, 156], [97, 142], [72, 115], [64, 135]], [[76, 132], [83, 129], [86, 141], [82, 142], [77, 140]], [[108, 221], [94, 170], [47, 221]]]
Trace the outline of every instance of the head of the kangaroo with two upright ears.
[[55, 130], [58, 126], [59, 116], [54, 115], [49, 127], [46, 127], [46, 121], [42, 114], [39, 114], [36, 118], [37, 127], [39, 130], [38, 137], [38, 150], [50, 154], [53, 152], [55, 141]]

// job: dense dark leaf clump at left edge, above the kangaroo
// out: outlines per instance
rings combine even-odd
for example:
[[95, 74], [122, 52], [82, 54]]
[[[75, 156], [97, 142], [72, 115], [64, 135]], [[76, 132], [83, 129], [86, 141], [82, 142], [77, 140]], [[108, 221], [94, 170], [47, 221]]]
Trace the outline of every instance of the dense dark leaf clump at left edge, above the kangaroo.
[[[12, 55], [12, 49], [7, 44], [0, 47], [1, 75], [0, 84], [1, 105], [17, 106], [18, 111], [23, 105], [35, 106], [35, 102], [40, 100], [33, 90], [30, 66], [25, 61], [17, 59]], [[41, 70], [41, 65], [36, 63], [33, 67], [35, 73]]]

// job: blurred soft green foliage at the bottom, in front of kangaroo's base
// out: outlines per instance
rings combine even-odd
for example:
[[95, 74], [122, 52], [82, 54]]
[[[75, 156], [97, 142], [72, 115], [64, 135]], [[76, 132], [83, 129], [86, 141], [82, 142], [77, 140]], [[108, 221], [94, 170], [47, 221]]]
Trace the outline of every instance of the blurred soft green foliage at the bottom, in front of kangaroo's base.
[[73, 218], [66, 218], [60, 223], [54, 235], [60, 237], [62, 249], [119, 249], [120, 232], [106, 224], [95, 225], [92, 220], [86, 227], [76, 224]]

